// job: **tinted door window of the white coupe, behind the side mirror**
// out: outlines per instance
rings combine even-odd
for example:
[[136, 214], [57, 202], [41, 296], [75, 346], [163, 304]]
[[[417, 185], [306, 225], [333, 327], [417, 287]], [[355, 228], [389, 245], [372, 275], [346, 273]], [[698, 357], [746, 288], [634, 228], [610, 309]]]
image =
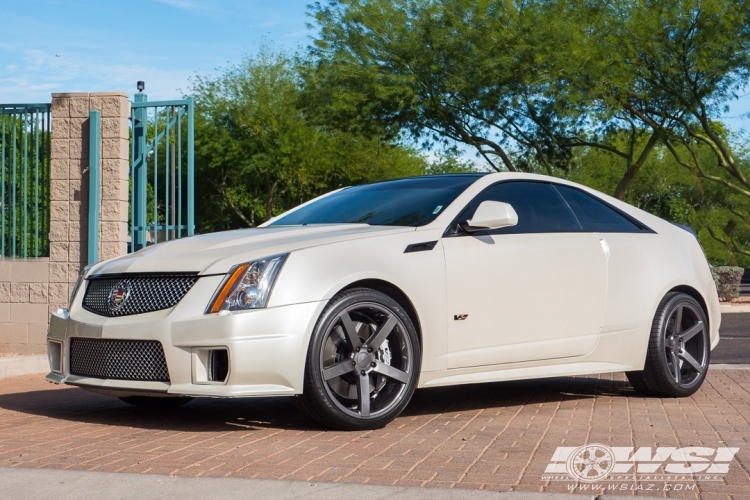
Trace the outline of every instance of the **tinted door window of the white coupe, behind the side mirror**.
[[518, 225], [495, 229], [492, 234], [561, 233], [581, 231], [581, 226], [554, 188], [544, 182], [511, 181], [496, 184], [475, 199], [462, 217], [470, 219], [483, 201], [509, 203], [518, 214]]

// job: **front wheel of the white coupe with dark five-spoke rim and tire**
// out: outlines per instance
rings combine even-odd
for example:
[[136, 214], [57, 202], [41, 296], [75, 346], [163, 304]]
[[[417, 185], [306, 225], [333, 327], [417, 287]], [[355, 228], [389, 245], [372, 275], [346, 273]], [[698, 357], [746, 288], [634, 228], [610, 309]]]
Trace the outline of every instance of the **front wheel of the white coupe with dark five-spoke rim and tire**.
[[395, 300], [367, 288], [346, 290], [318, 319], [298, 402], [321, 425], [378, 429], [409, 404], [421, 357], [414, 324]]

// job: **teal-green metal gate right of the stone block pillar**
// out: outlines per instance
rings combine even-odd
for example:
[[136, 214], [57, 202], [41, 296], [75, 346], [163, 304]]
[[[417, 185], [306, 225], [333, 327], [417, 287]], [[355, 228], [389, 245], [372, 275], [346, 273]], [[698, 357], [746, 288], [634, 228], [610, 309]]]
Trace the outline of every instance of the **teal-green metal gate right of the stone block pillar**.
[[131, 251], [195, 232], [193, 98], [131, 103]]

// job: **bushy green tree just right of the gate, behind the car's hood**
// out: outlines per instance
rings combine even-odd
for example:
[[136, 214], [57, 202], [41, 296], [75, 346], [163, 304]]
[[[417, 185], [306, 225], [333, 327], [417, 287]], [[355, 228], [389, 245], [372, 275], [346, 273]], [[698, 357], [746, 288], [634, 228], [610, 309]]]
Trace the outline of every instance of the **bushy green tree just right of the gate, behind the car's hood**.
[[194, 96], [202, 231], [253, 227], [332, 189], [427, 166], [385, 136], [313, 124], [299, 109], [294, 61], [268, 48], [216, 78], [198, 77]]

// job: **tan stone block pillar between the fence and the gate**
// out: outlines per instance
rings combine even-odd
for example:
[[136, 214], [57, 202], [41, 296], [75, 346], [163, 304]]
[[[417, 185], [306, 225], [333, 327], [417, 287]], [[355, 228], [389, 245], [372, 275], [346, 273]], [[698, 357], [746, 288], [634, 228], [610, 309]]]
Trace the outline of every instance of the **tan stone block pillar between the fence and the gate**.
[[[56, 300], [50, 301], [50, 310], [67, 305], [70, 288], [88, 260], [89, 111], [94, 109], [102, 115], [99, 259], [127, 251], [128, 96], [122, 92], [52, 94], [49, 275], [50, 296]], [[63, 297], [64, 303], [59, 300]]]

